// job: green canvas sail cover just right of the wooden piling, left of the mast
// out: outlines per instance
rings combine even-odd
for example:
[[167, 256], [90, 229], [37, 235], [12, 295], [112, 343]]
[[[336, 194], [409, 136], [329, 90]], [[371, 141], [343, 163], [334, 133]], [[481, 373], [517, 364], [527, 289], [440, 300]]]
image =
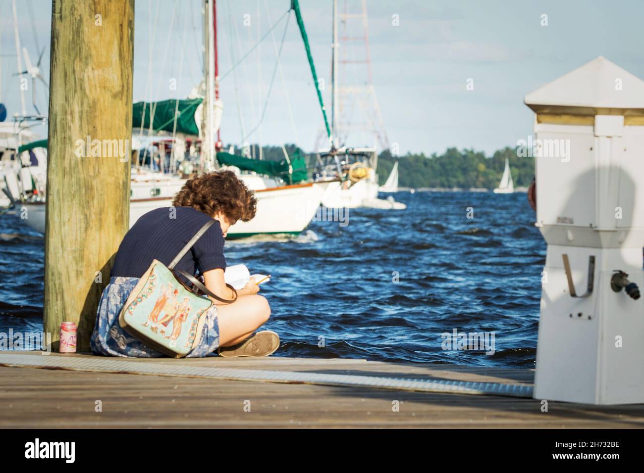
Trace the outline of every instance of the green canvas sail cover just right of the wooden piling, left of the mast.
[[[137, 102], [132, 106], [132, 127], [149, 128], [150, 115], [154, 116], [152, 128], [154, 131], [169, 131], [172, 133], [175, 127], [175, 110], [178, 113], [176, 118], [177, 133], [199, 134], [196, 122], [194, 122], [194, 111], [203, 102], [202, 98], [189, 98], [177, 100], [171, 98], [161, 102]], [[177, 108], [177, 102], [178, 108]], [[156, 108], [155, 108], [156, 107]], [[145, 109], [145, 116], [144, 116]]]

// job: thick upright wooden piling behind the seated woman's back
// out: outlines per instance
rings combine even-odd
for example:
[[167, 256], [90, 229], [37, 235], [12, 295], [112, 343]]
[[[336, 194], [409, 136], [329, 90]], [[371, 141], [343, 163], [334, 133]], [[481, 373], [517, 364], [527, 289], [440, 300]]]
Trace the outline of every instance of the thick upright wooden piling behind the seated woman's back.
[[133, 41], [134, 0], [53, 0], [44, 331], [55, 347], [70, 321], [88, 350], [129, 228]]

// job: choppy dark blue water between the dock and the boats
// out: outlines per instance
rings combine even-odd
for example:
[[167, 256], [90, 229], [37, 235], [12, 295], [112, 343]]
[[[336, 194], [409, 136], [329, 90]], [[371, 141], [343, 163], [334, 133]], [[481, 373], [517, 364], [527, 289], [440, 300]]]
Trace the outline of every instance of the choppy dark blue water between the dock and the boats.
[[[274, 356], [534, 367], [545, 242], [526, 194], [394, 197], [407, 209], [226, 243], [229, 264], [272, 275], [260, 293], [282, 340]], [[43, 252], [42, 236], [0, 216], [0, 331], [42, 329]], [[442, 349], [453, 329], [493, 332], [495, 353]]]

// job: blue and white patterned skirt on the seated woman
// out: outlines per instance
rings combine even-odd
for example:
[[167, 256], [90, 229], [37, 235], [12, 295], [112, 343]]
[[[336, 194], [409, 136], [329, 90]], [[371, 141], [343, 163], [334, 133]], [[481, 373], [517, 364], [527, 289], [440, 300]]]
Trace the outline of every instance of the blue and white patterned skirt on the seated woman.
[[[149, 348], [129, 335], [118, 325], [118, 314], [128, 301], [129, 293], [139, 281], [138, 277], [112, 277], [100, 297], [96, 324], [91, 334], [90, 347], [97, 355], [108, 357], [166, 357], [164, 353]], [[186, 357], [205, 357], [219, 347], [217, 308], [213, 304], [205, 314], [206, 320], [199, 344]]]

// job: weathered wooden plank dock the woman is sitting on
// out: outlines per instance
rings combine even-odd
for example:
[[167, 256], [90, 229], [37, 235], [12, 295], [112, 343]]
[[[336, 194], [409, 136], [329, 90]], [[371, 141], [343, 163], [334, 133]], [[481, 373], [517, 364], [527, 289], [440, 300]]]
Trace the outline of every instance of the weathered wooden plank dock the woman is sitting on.
[[[0, 352], [3, 358], [11, 353]], [[59, 355], [50, 357], [93, 357]], [[43, 357], [44, 358], [44, 357]], [[111, 359], [111, 358], [110, 358]], [[341, 358], [140, 360], [173, 366], [233, 367], [423, 380], [531, 384], [534, 371]], [[598, 407], [529, 398], [418, 393], [361, 386], [212, 380], [0, 366], [0, 427], [504, 427], [642, 428], [644, 405]], [[97, 401], [102, 411], [97, 412]], [[399, 410], [393, 407], [399, 402]], [[250, 410], [249, 410], [250, 409]]]

